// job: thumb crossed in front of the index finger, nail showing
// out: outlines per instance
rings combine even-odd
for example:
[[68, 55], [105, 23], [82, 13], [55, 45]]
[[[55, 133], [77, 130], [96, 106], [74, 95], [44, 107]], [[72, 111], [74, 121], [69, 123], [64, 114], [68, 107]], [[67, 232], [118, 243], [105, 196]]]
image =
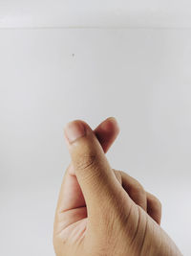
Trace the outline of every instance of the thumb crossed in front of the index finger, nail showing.
[[66, 126], [64, 133], [88, 216], [91, 217], [98, 213], [100, 204], [108, 205], [121, 188], [92, 128], [83, 121], [75, 120]]

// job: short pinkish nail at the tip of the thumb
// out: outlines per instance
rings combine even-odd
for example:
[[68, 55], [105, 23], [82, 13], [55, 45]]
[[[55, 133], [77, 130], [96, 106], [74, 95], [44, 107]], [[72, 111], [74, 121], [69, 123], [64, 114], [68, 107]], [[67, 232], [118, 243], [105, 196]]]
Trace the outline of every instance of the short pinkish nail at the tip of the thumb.
[[79, 122], [70, 122], [64, 128], [65, 135], [70, 143], [73, 143], [75, 140], [83, 137], [85, 135], [85, 128]]

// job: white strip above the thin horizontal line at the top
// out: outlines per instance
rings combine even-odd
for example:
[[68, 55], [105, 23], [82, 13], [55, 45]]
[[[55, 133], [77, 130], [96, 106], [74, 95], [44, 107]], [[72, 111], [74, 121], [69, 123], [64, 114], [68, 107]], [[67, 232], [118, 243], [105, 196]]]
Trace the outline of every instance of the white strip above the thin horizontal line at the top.
[[0, 0], [0, 28], [190, 28], [190, 0]]

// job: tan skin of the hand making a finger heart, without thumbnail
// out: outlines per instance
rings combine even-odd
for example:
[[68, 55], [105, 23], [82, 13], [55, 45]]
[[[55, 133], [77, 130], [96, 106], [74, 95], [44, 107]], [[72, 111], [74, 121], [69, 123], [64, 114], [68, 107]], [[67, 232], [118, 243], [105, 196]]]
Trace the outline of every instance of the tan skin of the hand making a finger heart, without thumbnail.
[[[111, 168], [105, 153], [119, 128], [108, 118], [70, 143], [72, 162], [60, 189], [53, 225], [57, 256], [178, 256], [160, 227], [161, 203], [130, 175]], [[70, 124], [69, 124], [70, 126]]]

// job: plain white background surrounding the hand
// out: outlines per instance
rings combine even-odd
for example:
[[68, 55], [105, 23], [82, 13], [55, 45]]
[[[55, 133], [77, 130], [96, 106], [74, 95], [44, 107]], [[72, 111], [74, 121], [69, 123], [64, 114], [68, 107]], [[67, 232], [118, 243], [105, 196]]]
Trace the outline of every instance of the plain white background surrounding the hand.
[[[53, 255], [54, 209], [70, 163], [63, 127], [82, 119], [96, 128], [115, 116], [120, 134], [107, 153], [111, 165], [159, 197], [163, 229], [183, 255], [191, 255], [191, 23], [186, 1], [181, 9], [179, 1], [165, 1], [173, 5], [166, 9], [174, 13], [167, 15], [169, 22], [162, 19], [160, 1], [156, 12], [163, 23], [158, 24], [147, 12], [148, 22], [141, 23], [141, 6], [129, 1], [124, 17], [137, 16], [143, 26], [136, 18], [119, 22], [115, 5], [103, 7], [105, 23], [101, 15], [94, 22], [89, 15], [78, 26], [76, 16], [83, 15], [77, 6], [67, 23], [60, 8], [49, 19], [43, 2], [41, 9], [29, 3], [28, 12], [24, 1], [16, 2], [0, 1], [0, 254]], [[51, 1], [47, 7], [51, 12]], [[90, 3], [86, 8], [86, 13], [102, 13]], [[183, 24], [179, 17], [185, 13]]]

